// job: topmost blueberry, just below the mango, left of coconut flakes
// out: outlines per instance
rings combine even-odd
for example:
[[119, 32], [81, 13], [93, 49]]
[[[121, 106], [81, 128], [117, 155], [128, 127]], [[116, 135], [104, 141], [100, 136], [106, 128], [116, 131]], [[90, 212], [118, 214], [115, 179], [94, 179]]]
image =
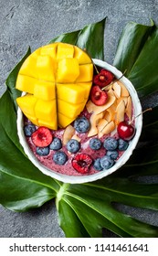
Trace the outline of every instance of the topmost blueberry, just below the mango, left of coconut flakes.
[[74, 128], [78, 133], [87, 133], [90, 130], [90, 121], [86, 117], [79, 117], [74, 122]]

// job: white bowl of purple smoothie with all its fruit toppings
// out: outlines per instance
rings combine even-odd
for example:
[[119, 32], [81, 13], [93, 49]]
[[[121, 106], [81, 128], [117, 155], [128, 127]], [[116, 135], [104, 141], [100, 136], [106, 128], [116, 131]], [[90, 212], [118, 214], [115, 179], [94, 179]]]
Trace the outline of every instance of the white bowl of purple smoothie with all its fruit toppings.
[[121, 71], [54, 43], [22, 65], [17, 133], [29, 160], [65, 183], [95, 181], [124, 165], [142, 131], [142, 107]]

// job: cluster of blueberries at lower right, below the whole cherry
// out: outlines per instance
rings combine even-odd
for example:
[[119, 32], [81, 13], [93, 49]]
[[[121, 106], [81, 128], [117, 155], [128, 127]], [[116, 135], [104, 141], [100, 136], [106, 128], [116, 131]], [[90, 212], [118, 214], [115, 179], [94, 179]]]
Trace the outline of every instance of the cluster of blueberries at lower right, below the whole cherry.
[[106, 155], [97, 158], [94, 161], [94, 168], [97, 171], [102, 171], [103, 169], [110, 169], [111, 166], [115, 164], [115, 160], [119, 156], [120, 151], [124, 151], [128, 147], [128, 142], [122, 140], [122, 139], [115, 139], [112, 137], [109, 137], [104, 140], [103, 147], [106, 149]]

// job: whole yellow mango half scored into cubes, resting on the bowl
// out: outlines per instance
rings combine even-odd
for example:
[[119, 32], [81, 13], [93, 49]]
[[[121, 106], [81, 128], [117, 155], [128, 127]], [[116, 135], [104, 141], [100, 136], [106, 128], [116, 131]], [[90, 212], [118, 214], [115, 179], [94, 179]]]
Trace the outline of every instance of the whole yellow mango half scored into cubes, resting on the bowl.
[[81, 48], [61, 42], [37, 48], [17, 75], [16, 89], [26, 92], [17, 105], [38, 126], [65, 128], [83, 111], [92, 77], [92, 60]]

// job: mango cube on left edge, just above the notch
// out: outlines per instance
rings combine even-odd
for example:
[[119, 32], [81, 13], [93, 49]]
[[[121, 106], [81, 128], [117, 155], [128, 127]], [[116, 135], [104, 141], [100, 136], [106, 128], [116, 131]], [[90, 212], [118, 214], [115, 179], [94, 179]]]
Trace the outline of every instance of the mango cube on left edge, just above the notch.
[[35, 78], [19, 74], [16, 80], [16, 89], [33, 94], [36, 82]]

